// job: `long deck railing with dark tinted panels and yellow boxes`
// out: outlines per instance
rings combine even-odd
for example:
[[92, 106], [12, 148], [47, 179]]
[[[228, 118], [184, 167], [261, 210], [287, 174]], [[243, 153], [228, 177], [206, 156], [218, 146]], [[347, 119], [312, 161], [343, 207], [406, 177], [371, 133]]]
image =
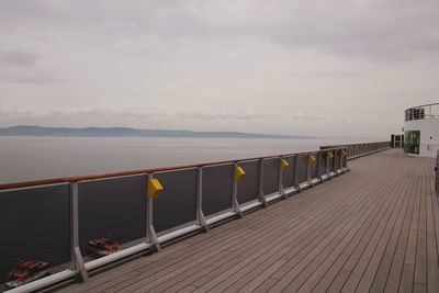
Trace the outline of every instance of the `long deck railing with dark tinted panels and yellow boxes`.
[[[384, 146], [367, 145], [361, 145], [362, 153]], [[31, 292], [78, 277], [86, 281], [106, 264], [158, 251], [172, 239], [207, 232], [344, 173], [354, 149], [340, 146], [0, 185], [0, 278], [32, 259], [49, 262], [50, 275], [11, 292]], [[160, 185], [164, 190], [157, 195]], [[122, 249], [95, 258], [88, 241], [100, 237], [116, 240]]]

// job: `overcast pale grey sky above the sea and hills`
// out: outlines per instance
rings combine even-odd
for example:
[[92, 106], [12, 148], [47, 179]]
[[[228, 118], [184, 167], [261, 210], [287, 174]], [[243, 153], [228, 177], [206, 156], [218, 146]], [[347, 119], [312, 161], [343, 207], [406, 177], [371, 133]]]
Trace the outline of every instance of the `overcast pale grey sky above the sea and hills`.
[[438, 0], [0, 2], [0, 126], [370, 136], [439, 102]]

